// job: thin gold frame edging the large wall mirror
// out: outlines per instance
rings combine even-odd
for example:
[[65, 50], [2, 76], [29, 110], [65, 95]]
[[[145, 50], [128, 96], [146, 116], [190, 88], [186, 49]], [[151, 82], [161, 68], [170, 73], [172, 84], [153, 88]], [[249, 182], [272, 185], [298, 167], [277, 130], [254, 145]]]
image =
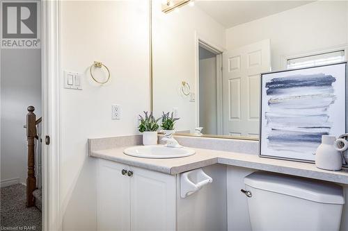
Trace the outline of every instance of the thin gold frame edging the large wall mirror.
[[[191, 0], [190, 0], [191, 1]], [[185, 3], [189, 3], [189, 1], [185, 1]], [[181, 6], [181, 5], [179, 5]], [[176, 6], [176, 7], [179, 7]], [[175, 7], [175, 8], [176, 8]], [[171, 9], [171, 11], [174, 10]], [[171, 13], [171, 12], [166, 12], [166, 13]], [[150, 44], [150, 111], [153, 111], [153, 55], [154, 55], [154, 49], [153, 49], [153, 34], [152, 34], [152, 18], [153, 18], [153, 14], [152, 14], [152, 0], [149, 0], [149, 44]], [[195, 135], [193, 133], [180, 133], [180, 132], [175, 132], [174, 135], [178, 135], [178, 136], [182, 136], [182, 137], [203, 137], [203, 138], [218, 138], [218, 139], [239, 139], [239, 140], [248, 140], [248, 141], [260, 141], [260, 135], [258, 138], [255, 137], [237, 137], [237, 136], [228, 136], [228, 135]]]

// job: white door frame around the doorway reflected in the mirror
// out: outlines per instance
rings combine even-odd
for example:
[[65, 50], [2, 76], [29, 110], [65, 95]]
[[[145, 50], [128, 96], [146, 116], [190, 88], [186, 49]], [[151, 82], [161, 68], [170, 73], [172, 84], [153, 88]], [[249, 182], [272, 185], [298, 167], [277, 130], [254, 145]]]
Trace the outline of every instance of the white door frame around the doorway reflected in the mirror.
[[226, 49], [206, 40], [195, 31], [196, 128], [199, 127], [199, 47], [216, 55], [216, 128], [217, 133], [221, 134], [223, 131], [222, 55]]

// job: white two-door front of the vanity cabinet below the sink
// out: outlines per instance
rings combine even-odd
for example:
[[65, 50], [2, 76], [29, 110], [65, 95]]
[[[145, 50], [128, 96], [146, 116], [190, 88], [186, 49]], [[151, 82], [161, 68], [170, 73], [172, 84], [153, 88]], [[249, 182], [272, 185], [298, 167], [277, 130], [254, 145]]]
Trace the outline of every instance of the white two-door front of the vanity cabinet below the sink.
[[107, 160], [98, 172], [98, 230], [176, 230], [175, 176]]

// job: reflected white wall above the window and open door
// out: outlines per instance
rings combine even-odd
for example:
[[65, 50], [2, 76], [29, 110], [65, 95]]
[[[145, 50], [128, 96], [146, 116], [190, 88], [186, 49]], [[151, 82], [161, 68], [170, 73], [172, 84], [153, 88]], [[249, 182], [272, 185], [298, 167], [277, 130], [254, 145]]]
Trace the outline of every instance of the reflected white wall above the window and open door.
[[316, 1], [228, 28], [226, 47], [235, 49], [271, 39], [272, 71], [282, 69], [282, 55], [347, 44], [347, 5], [347, 1]]

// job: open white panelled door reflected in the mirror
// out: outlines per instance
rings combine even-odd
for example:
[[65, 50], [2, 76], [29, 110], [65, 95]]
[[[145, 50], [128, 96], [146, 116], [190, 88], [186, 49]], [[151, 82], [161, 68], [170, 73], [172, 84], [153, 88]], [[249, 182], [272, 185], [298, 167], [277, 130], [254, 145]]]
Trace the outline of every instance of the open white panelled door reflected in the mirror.
[[223, 53], [223, 135], [258, 137], [260, 73], [271, 70], [270, 40]]

